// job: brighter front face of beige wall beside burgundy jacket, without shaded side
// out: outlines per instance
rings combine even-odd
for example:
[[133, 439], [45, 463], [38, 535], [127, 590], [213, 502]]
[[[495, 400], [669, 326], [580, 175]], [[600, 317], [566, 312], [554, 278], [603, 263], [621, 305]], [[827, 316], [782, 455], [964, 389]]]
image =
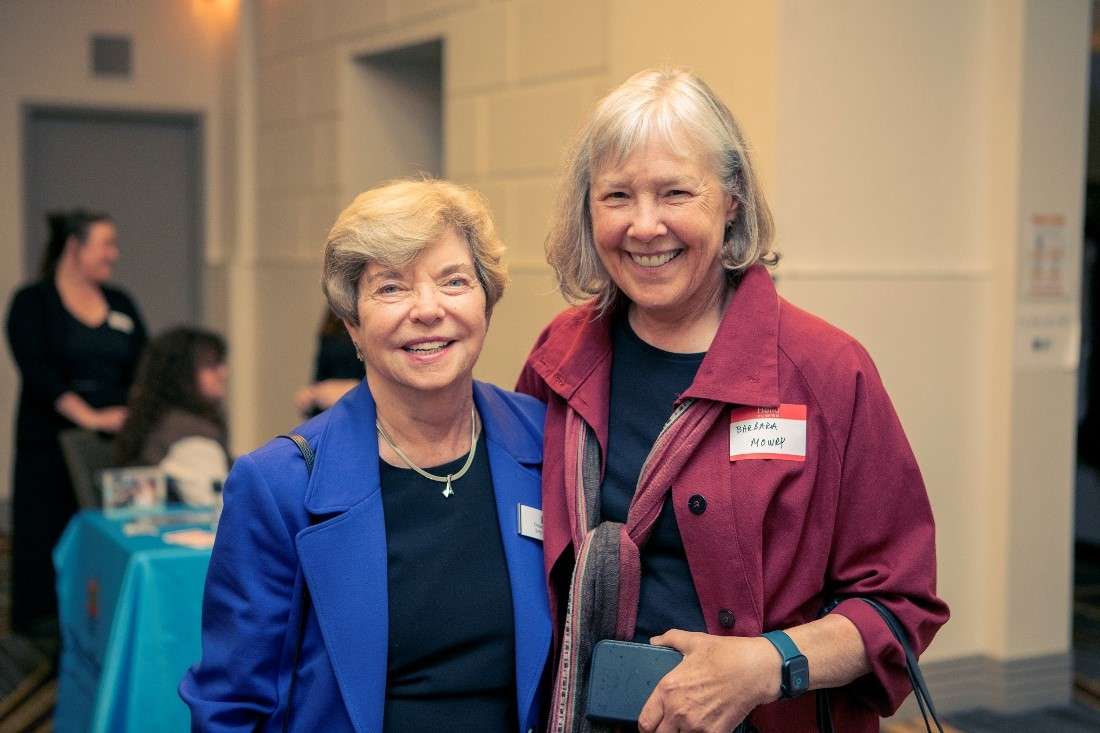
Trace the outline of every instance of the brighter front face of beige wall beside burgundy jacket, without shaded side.
[[954, 611], [930, 658], [986, 647], [990, 260], [1010, 248], [982, 231], [985, 11], [787, 2], [780, 24], [781, 289], [865, 343], [920, 459]]

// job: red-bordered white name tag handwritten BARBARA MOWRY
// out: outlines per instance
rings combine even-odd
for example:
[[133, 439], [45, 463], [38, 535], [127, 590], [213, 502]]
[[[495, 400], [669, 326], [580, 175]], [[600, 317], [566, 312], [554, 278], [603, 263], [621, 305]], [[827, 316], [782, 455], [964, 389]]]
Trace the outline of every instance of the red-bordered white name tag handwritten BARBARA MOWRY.
[[806, 460], [806, 406], [736, 407], [729, 412], [729, 460]]

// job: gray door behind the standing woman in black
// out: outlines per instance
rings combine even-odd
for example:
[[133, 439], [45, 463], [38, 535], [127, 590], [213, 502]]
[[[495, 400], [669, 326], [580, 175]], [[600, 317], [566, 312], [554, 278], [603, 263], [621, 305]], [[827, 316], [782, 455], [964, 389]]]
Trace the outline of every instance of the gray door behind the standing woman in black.
[[107, 211], [119, 228], [113, 282], [151, 331], [198, 320], [200, 129], [191, 116], [30, 108], [25, 116], [26, 276], [37, 274], [45, 212]]

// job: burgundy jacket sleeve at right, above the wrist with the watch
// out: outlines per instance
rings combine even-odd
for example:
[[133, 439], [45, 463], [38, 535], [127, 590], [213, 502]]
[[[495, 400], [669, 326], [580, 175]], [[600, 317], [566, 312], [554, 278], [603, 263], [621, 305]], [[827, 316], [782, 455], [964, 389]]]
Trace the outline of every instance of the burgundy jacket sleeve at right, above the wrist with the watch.
[[935, 525], [916, 459], [871, 358], [853, 348], [854, 374], [845, 370], [850, 419], [846, 431], [834, 433], [843, 467], [828, 588], [847, 599], [834, 613], [859, 630], [871, 665], [853, 692], [890, 715], [912, 690], [905, 657], [875, 610], [854, 597], [890, 609], [916, 654], [947, 622], [948, 610], [936, 597]]

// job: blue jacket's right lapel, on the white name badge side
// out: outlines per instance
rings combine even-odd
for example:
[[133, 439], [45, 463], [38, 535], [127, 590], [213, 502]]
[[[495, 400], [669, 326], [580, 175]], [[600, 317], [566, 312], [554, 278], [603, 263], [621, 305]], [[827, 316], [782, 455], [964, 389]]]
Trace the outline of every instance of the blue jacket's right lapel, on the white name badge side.
[[542, 543], [519, 534], [519, 505], [541, 507], [541, 440], [516, 417], [492, 387], [475, 383], [474, 400], [485, 427], [496, 514], [512, 584], [516, 635], [516, 703], [519, 729], [531, 724], [547, 654], [550, 612], [542, 576]]

